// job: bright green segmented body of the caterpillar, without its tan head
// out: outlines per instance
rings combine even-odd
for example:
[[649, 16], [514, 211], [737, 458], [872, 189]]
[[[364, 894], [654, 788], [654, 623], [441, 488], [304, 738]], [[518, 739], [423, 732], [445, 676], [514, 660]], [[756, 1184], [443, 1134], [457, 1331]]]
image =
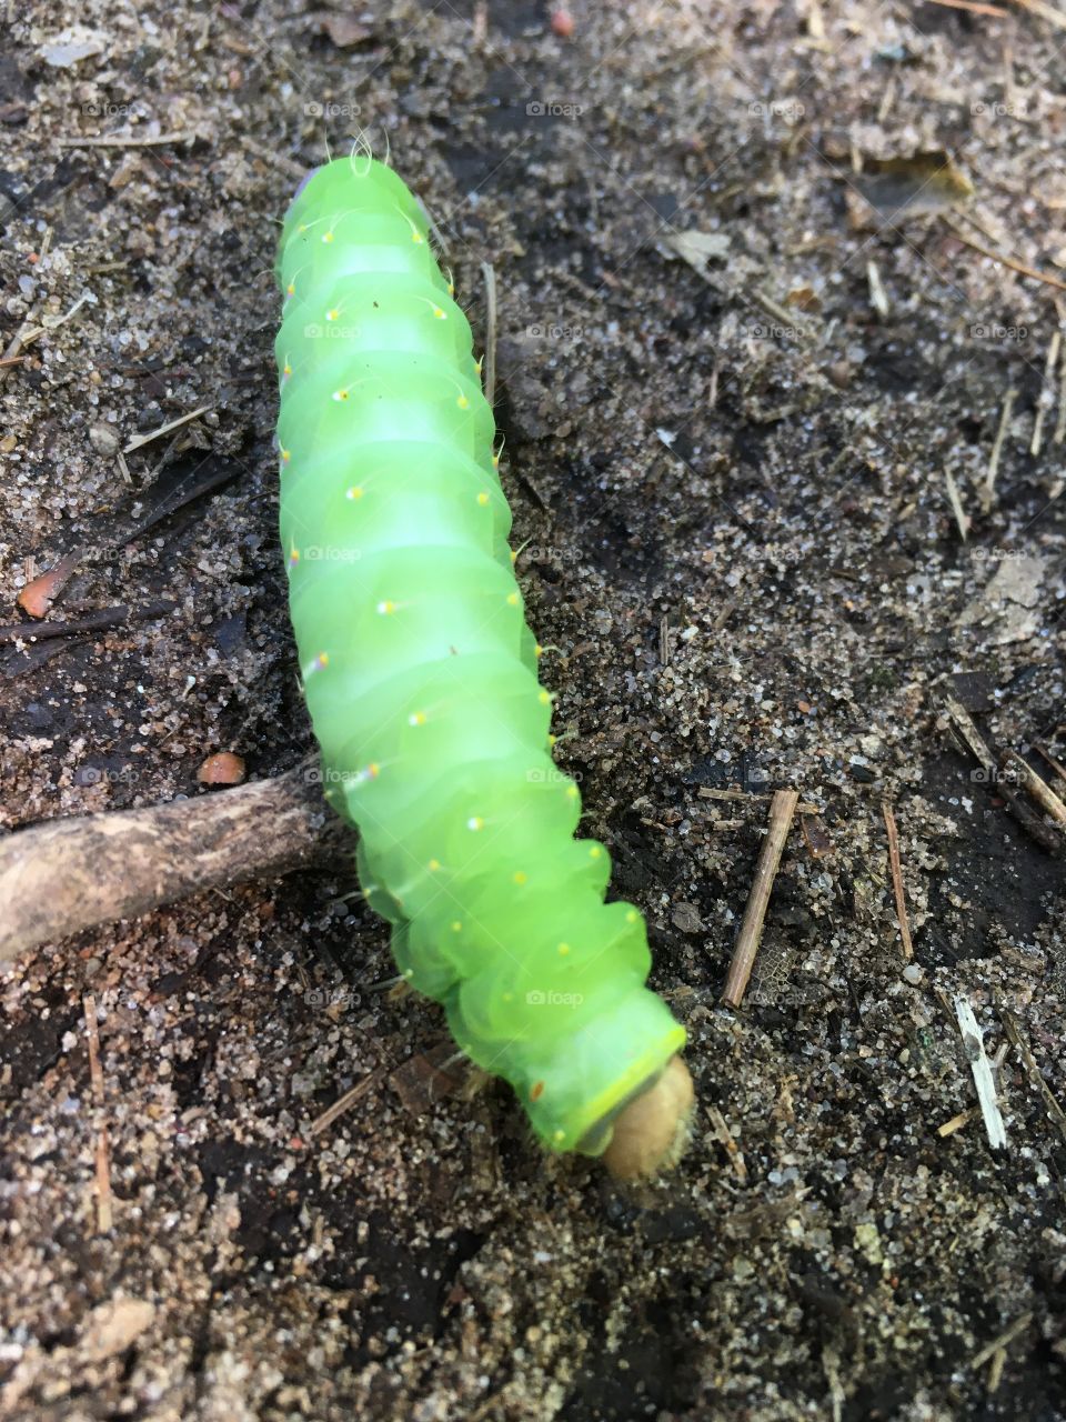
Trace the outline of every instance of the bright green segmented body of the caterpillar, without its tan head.
[[574, 839], [469, 323], [364, 155], [304, 181], [279, 280], [290, 610], [361, 886], [458, 1047], [546, 1146], [598, 1155], [685, 1031], [644, 987], [641, 914], [604, 903], [607, 850]]

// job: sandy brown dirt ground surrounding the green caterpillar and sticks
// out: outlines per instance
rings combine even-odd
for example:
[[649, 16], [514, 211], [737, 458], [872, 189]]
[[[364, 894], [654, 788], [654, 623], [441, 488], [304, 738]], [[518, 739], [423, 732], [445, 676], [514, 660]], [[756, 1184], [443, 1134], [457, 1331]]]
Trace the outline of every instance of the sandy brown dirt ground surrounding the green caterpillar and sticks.
[[[4, 9], [3, 620], [75, 549], [53, 619], [172, 606], [0, 646], [0, 825], [307, 754], [270, 269], [362, 127], [482, 338], [495, 266], [560, 759], [699, 1103], [655, 1185], [546, 1159], [506, 1089], [434, 1074], [441, 1012], [381, 988], [347, 869], [50, 944], [0, 978], [0, 1415], [1066, 1418], [1060, 833], [944, 711], [1063, 789], [1032, 749], [1066, 758], [1056, 11], [574, 0], [567, 37], [527, 0]], [[785, 785], [816, 811], [735, 1012]]]

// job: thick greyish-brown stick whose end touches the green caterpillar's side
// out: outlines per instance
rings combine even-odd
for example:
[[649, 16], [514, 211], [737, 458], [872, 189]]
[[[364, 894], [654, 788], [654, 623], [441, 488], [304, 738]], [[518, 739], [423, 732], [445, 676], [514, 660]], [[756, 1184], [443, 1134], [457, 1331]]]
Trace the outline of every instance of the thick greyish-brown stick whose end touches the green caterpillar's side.
[[308, 761], [240, 789], [45, 820], [0, 838], [0, 963], [205, 889], [351, 853], [351, 835], [317, 781]]

